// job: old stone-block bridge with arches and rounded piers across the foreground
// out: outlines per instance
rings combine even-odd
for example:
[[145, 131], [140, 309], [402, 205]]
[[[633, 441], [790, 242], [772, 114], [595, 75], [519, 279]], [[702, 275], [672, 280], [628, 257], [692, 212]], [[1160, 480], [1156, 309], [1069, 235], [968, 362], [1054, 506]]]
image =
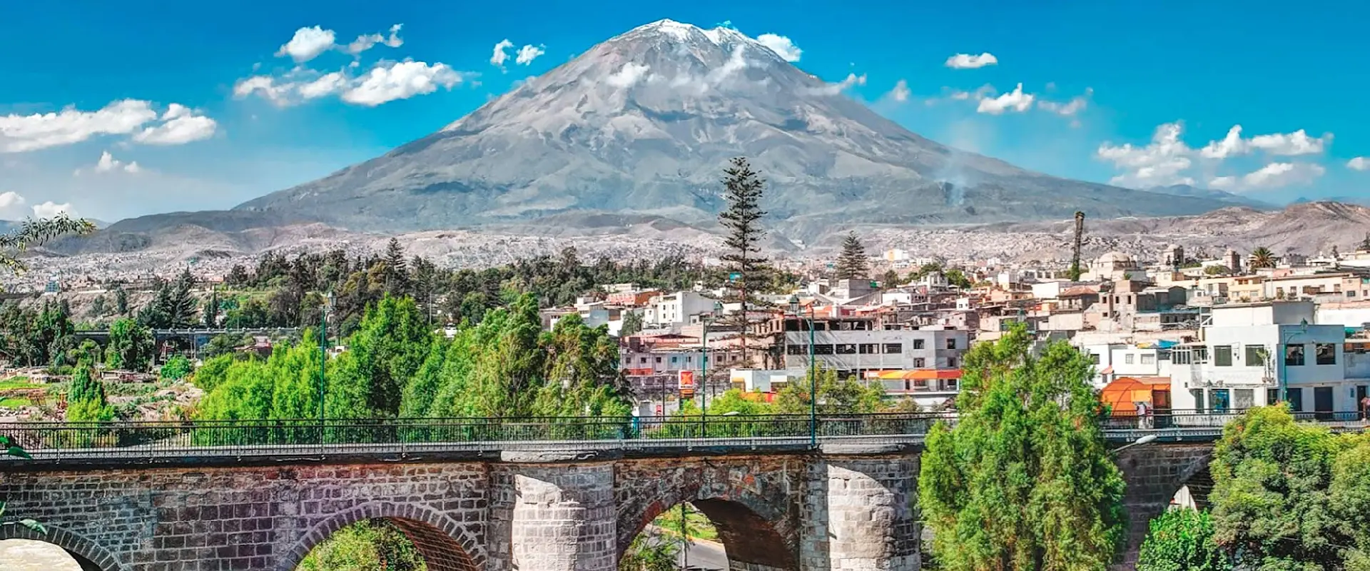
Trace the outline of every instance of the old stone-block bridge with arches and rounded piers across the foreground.
[[[1119, 453], [1134, 560], [1147, 520], [1211, 445]], [[0, 464], [10, 515], [88, 571], [292, 571], [338, 529], [384, 518], [433, 571], [610, 571], [658, 515], [692, 503], [732, 570], [918, 570], [918, 446], [503, 452]], [[1126, 566], [1126, 564], [1125, 564]]]

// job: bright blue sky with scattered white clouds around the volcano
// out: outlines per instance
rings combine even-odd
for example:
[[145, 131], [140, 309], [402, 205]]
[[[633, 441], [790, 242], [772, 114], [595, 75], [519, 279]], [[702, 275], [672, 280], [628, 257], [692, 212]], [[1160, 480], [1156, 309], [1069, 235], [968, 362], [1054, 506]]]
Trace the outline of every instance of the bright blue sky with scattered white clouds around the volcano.
[[[1370, 167], [1354, 160], [1370, 155], [1363, 3], [86, 0], [0, 7], [0, 219], [227, 208], [432, 133], [662, 18], [784, 36], [797, 66], [833, 82], [863, 75], [848, 96], [911, 130], [1055, 175], [1270, 201], [1370, 188], [1370, 170], [1352, 167]], [[296, 63], [282, 45], [312, 26], [336, 45], [296, 51]], [[490, 58], [506, 38], [501, 70]], [[543, 53], [519, 64], [525, 45]], [[958, 53], [996, 63], [948, 66]], [[300, 85], [333, 71], [338, 84], [303, 100]], [[253, 77], [275, 101], [241, 93]]]

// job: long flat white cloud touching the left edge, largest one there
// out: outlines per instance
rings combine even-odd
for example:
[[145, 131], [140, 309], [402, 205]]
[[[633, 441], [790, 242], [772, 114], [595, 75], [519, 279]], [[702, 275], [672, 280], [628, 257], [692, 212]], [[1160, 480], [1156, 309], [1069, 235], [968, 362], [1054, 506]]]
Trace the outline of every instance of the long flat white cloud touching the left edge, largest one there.
[[25, 152], [70, 145], [96, 136], [130, 134], [158, 112], [148, 101], [126, 99], [100, 111], [74, 107], [52, 114], [0, 115], [0, 152]]

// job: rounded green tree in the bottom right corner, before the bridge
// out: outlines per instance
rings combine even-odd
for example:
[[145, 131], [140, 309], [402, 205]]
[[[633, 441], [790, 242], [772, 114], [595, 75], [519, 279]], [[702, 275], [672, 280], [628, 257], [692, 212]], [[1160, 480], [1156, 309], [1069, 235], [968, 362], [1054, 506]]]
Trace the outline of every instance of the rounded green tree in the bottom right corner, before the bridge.
[[1366, 437], [1256, 408], [1223, 429], [1210, 471], [1214, 538], [1238, 567], [1341, 570], [1370, 553]]

